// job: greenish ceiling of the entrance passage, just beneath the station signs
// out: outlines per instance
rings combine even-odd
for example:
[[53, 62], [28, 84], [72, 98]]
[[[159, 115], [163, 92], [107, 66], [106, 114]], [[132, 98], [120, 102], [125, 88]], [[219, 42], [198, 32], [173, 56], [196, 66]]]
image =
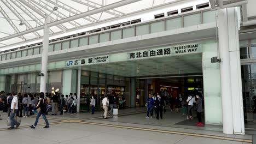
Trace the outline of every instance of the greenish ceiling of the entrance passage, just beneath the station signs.
[[125, 77], [202, 75], [202, 53], [86, 65], [81, 69]]

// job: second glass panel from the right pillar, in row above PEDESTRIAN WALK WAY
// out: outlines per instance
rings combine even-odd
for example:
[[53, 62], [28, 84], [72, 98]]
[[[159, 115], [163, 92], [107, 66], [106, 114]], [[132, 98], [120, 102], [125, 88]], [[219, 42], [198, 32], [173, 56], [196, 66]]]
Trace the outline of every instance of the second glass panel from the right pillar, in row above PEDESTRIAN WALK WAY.
[[184, 27], [201, 24], [201, 14], [193, 14], [184, 16]]

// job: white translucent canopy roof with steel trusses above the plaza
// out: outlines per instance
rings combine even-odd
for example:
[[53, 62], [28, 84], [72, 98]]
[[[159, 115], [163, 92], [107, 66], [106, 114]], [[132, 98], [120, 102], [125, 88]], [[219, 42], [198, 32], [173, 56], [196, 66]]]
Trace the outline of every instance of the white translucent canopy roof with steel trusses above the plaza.
[[[129, 0], [123, 0], [129, 1]], [[50, 34], [65, 33], [84, 26], [97, 25], [102, 21], [115, 19], [144, 9], [158, 7], [180, 0], [141, 0], [122, 5], [114, 9], [101, 11], [77, 20], [61, 23], [50, 27]], [[20, 35], [19, 37], [1, 40], [10, 35], [29, 29], [44, 26], [45, 17], [50, 15], [50, 22], [56, 22], [74, 15], [121, 2], [120, 0], [0, 0], [0, 47], [6, 47], [23, 41], [43, 37], [43, 29]]]

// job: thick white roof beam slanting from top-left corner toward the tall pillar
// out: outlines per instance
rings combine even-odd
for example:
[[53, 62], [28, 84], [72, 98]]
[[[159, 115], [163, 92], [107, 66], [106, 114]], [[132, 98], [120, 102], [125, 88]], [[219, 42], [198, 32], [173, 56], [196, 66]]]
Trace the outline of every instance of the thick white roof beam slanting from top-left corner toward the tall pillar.
[[[23, 17], [22, 15], [20, 15], [20, 14], [18, 13], [18, 11], [17, 11], [8, 1], [6, 1], [6, 0], [1, 0], [1, 1], [5, 4], [6, 7], [8, 7], [9, 10], [11, 10], [11, 12], [13, 12], [13, 14], [14, 14], [16, 17], [18, 17], [18, 19], [19, 19], [21, 22], [24, 22], [24, 25], [25, 25], [27, 28], [29, 28], [29, 29], [33, 28], [33, 27], [30, 25], [30, 23], [26, 22], [26, 20], [24, 19], [24, 17]], [[40, 38], [40, 34], [39, 34], [38, 32], [33, 32], [33, 34], [36, 35], [37, 38]]]

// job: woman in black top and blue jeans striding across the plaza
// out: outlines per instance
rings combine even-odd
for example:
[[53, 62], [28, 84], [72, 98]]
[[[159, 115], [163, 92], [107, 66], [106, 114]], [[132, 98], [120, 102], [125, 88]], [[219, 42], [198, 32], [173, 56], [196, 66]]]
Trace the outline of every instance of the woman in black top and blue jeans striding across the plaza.
[[[44, 99], [44, 93], [43, 92], [40, 92], [39, 94], [39, 101], [38, 101], [38, 104], [37, 104], [37, 107], [34, 109], [34, 110], [37, 110], [40, 108], [40, 111], [38, 112], [37, 114], [37, 118], [36, 118], [36, 121], [34, 122], [34, 124], [31, 124], [30, 128], [36, 128], [37, 127], [37, 123], [38, 123], [38, 119], [39, 117], [42, 115], [43, 118], [44, 118], [44, 121], [46, 123], [45, 127], [44, 128], [50, 128], [49, 126], [49, 122], [45, 116], [45, 112], [46, 112], [46, 103], [45, 103], [45, 99]], [[34, 111], [32, 110], [32, 111]]]

